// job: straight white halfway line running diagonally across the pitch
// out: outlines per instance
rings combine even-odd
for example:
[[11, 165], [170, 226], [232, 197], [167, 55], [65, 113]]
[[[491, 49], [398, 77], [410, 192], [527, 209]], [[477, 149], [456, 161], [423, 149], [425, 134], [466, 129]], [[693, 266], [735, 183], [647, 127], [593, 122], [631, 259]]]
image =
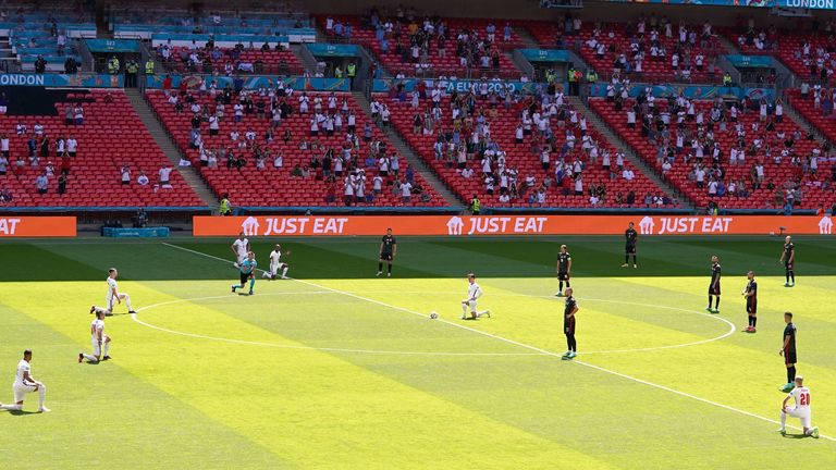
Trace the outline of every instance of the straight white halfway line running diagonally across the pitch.
[[[212, 256], [212, 255], [204, 253], [204, 252], [200, 252], [200, 251], [195, 251], [193, 249], [180, 247], [180, 246], [176, 246], [176, 245], [171, 245], [171, 244], [168, 244], [168, 243], [164, 243], [164, 242], [163, 242], [163, 245], [172, 247], [172, 248], [181, 249], [181, 250], [184, 250], [184, 251], [188, 251], [188, 252], [192, 252], [192, 253], [195, 253], [195, 255], [204, 256], [204, 257], [207, 257], [207, 258], [213, 258], [213, 259], [217, 259], [217, 260], [220, 260], [220, 261], [229, 262], [228, 260], [225, 260], [223, 258], [218, 258], [218, 257]], [[354, 298], [357, 298], [357, 299], [360, 299], [360, 300], [366, 300], [366, 301], [369, 301], [371, 304], [377, 304], [377, 305], [389, 307], [389, 308], [392, 308], [392, 309], [395, 309], [395, 310], [401, 310], [401, 311], [404, 311], [404, 312], [407, 312], [407, 313], [414, 313], [414, 314], [419, 314], [419, 316], [423, 317], [423, 313], [419, 313], [419, 312], [416, 312], [416, 311], [413, 311], [413, 310], [409, 310], [409, 309], [405, 309], [403, 307], [397, 307], [397, 306], [384, 304], [384, 302], [381, 302], [379, 300], [361, 297], [361, 296], [358, 296], [358, 295], [355, 295], [355, 294], [352, 294], [352, 293], [339, 290], [339, 289], [335, 289], [335, 288], [331, 288], [331, 287], [328, 287], [328, 286], [319, 285], [319, 284], [316, 284], [316, 283], [312, 283], [312, 282], [308, 282], [308, 281], [302, 281], [302, 280], [297, 280], [297, 279], [294, 279], [294, 281], [303, 283], [303, 284], [307, 284], [307, 285], [312, 286], [312, 287], [318, 287], [318, 288], [322, 288], [322, 289], [325, 289], [325, 290], [332, 290], [332, 292], [335, 292], [335, 293], [341, 293], [341, 294], [344, 294], [344, 295], [346, 295], [348, 297], [354, 297]], [[525, 343], [519, 343], [519, 342], [516, 342], [514, 339], [509, 339], [509, 338], [506, 338], [506, 337], [503, 337], [503, 336], [499, 336], [499, 335], [495, 335], [495, 334], [492, 334], [492, 333], [488, 333], [488, 332], [483, 332], [483, 331], [480, 331], [480, 330], [476, 330], [474, 327], [465, 326], [465, 325], [462, 325], [462, 324], [458, 324], [458, 323], [453, 323], [453, 322], [447, 321], [447, 320], [439, 319], [439, 321], [441, 321], [443, 323], [446, 323], [448, 325], [455, 326], [455, 327], [459, 327], [459, 329], [463, 329], [463, 330], [471, 331], [474, 333], [481, 334], [481, 335], [484, 335], [484, 336], [488, 336], [488, 337], [492, 337], [492, 338], [501, 341], [501, 342], [513, 344], [513, 345], [519, 346], [521, 348], [526, 348], [526, 349], [530, 349], [530, 350], [533, 350], [533, 351], [537, 351], [537, 352], [541, 352], [541, 354], [546, 355], [546, 356], [553, 356], [553, 357], [561, 357], [562, 358], [562, 355], [560, 355], [557, 352], [545, 350], [545, 349], [539, 348], [537, 346], [532, 346], [532, 345], [525, 344]], [[712, 401], [712, 400], [710, 400], [708, 398], [702, 398], [702, 397], [699, 397], [697, 395], [691, 395], [691, 394], [686, 393], [686, 392], [680, 392], [678, 389], [671, 388], [671, 387], [665, 386], [665, 385], [660, 385], [660, 384], [656, 384], [656, 383], [653, 383], [653, 382], [648, 382], [646, 380], [642, 380], [642, 379], [639, 379], [639, 378], [635, 378], [632, 375], [627, 375], [627, 374], [624, 374], [624, 373], [620, 373], [620, 372], [616, 372], [614, 370], [610, 370], [610, 369], [606, 369], [606, 368], [603, 368], [603, 367], [600, 367], [600, 366], [594, 366], [594, 364], [591, 364], [589, 362], [583, 362], [583, 361], [579, 361], [579, 360], [575, 360], [575, 359], [573, 359], [569, 362], [574, 362], [574, 363], [577, 363], [577, 364], [580, 364], [580, 366], [585, 366], [585, 367], [588, 367], [590, 369], [594, 369], [594, 370], [600, 371], [600, 372], [606, 372], [608, 374], [613, 374], [613, 375], [619, 376], [622, 379], [626, 379], [626, 380], [629, 380], [629, 381], [634, 381], [636, 383], [640, 383], [642, 385], [647, 385], [647, 386], [650, 386], [650, 387], [653, 387], [653, 388], [657, 388], [657, 389], [662, 389], [662, 391], [665, 391], [665, 392], [669, 392], [672, 394], [684, 396], [686, 398], [691, 398], [691, 399], [694, 399], [697, 401], [701, 401], [701, 403], [704, 403], [706, 405], [711, 405], [711, 406], [714, 406], [714, 407], [717, 407], [717, 408], [722, 408], [722, 409], [725, 409], [725, 410], [728, 410], [728, 411], [735, 411], [735, 412], [738, 412], [740, 415], [746, 415], [746, 416], [748, 416], [750, 418], [757, 418], [757, 419], [759, 419], [761, 421], [766, 421], [766, 422], [770, 422], [770, 423], [773, 423], [773, 424], [780, 424], [779, 421], [774, 420], [774, 419], [762, 417], [760, 415], [755, 415], [755, 413], [750, 412], [750, 411], [745, 411], [745, 410], [741, 410], [739, 408], [730, 407], [728, 405], [723, 405], [723, 404], [717, 403], [717, 401]], [[795, 430], [800, 430], [800, 428], [794, 426], [794, 425], [787, 425], [787, 428], [791, 428], [791, 429], [795, 429]], [[822, 438], [828, 440], [828, 441], [836, 442], [836, 437], [831, 437], [831, 436], [824, 435], [824, 434], [820, 434], [819, 436], [822, 437]]]

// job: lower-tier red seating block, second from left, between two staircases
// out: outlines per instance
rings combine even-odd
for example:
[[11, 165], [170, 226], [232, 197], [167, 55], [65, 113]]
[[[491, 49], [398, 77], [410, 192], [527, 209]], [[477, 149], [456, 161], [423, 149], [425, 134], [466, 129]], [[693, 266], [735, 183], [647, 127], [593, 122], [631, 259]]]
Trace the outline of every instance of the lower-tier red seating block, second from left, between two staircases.
[[[308, 112], [302, 112], [302, 97], [309, 103]], [[446, 206], [403, 158], [397, 159], [397, 182], [392, 171], [386, 171], [376, 182], [379, 158], [392, 157], [393, 147], [349, 94], [293, 91], [286, 99], [276, 99], [275, 109], [281, 115], [278, 121], [273, 121], [270, 112], [270, 97], [258, 92], [251, 95], [255, 104], [249, 108], [250, 112], [242, 107], [236, 121], [234, 107], [241, 96], [230, 96], [217, 124], [209, 124], [208, 118], [199, 119], [204, 110], [211, 109], [213, 113], [219, 110], [208, 94], [184, 97], [184, 101], [194, 102], [185, 102], [182, 112], [177, 112], [171, 97], [162, 91], [148, 91], [147, 98], [181, 150], [200, 169], [212, 189], [219, 195], [229, 194], [238, 206]], [[263, 114], [259, 114], [258, 103], [265, 104]], [[193, 121], [193, 104], [200, 108], [197, 121]], [[322, 121], [317, 123], [317, 135], [314, 135], [312, 124], [320, 110]], [[336, 118], [333, 132], [327, 131], [327, 115]], [[356, 120], [356, 134], [349, 138], [352, 116]], [[212, 131], [216, 126], [217, 133]], [[196, 143], [193, 129], [199, 131], [200, 141]], [[233, 140], [235, 132], [238, 135]], [[269, 138], [268, 133], [272, 133]], [[374, 158], [369, 159], [372, 154]], [[276, 157], [281, 158], [279, 162]], [[361, 180], [353, 180], [349, 175], [355, 170], [364, 170]], [[411, 188], [401, 184], [409, 181]], [[374, 190], [377, 183], [381, 186], [380, 191]], [[355, 201], [357, 186], [362, 187], [364, 197]], [[349, 203], [346, 194], [354, 196]]]

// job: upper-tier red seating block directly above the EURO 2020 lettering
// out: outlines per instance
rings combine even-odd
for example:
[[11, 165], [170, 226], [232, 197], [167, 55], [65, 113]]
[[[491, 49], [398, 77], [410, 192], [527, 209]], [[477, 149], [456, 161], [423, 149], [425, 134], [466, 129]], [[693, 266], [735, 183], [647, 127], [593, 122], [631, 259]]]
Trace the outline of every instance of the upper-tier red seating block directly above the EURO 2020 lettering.
[[[319, 15], [317, 21], [327, 39], [370, 48], [392, 75], [519, 78], [520, 72], [506, 51], [522, 47], [522, 42], [508, 22], [349, 15]], [[346, 25], [351, 26], [347, 37]]]

